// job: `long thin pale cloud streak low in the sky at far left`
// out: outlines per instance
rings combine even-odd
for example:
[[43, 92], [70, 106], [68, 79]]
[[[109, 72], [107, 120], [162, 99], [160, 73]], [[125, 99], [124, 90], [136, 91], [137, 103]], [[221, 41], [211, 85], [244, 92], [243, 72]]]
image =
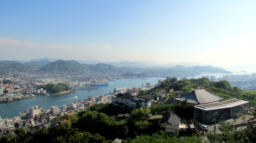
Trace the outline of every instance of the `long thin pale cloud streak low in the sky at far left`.
[[48, 48], [48, 49], [66, 49], [66, 50], [72, 49], [71, 47], [67, 47], [67, 46], [33, 44], [29, 41], [19, 42], [17, 40], [5, 39], [5, 38], [0, 38], [0, 46], [23, 46], [23, 47], [25, 46], [25, 47], [41, 47], [41, 48]]

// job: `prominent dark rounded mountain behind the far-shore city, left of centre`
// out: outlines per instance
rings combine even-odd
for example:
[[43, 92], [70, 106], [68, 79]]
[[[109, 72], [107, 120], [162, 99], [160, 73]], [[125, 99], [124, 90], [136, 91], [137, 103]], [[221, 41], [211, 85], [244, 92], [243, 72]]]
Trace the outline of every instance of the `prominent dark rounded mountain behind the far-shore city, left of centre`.
[[40, 68], [40, 71], [79, 71], [86, 67], [77, 61], [62, 61], [48, 63], [46, 66]]

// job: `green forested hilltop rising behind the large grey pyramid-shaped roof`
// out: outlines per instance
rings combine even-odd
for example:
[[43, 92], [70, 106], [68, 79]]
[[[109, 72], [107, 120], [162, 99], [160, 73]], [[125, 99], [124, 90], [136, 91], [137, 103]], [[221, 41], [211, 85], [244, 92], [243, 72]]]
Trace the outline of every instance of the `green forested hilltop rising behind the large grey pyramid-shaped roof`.
[[[225, 100], [228, 99], [242, 99], [250, 101], [251, 106], [256, 106], [256, 91], [247, 91], [243, 92], [239, 87], [231, 87], [230, 82], [226, 80], [221, 80], [218, 82], [210, 81], [208, 78], [198, 78], [198, 79], [187, 79], [177, 80], [176, 77], [171, 79], [164, 80], [161, 85], [151, 89], [150, 91], [140, 92], [140, 96], [143, 95], [152, 95], [155, 96], [156, 93], [162, 90], [179, 91], [180, 95], [186, 95], [190, 92], [193, 92], [195, 89], [203, 88], [208, 92], [215, 94], [220, 97], [224, 97]], [[172, 97], [177, 95], [172, 93]], [[170, 97], [170, 98], [172, 98]]]

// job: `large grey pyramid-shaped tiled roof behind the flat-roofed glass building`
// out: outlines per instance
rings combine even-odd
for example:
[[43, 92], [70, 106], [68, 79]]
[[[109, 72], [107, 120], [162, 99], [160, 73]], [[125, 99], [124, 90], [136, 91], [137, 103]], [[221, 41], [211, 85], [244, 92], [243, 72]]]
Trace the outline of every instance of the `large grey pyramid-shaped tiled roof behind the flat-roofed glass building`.
[[187, 100], [188, 103], [206, 104], [206, 103], [217, 102], [217, 101], [223, 100], [224, 98], [211, 94], [207, 92], [205, 89], [200, 89], [174, 99], [179, 101]]

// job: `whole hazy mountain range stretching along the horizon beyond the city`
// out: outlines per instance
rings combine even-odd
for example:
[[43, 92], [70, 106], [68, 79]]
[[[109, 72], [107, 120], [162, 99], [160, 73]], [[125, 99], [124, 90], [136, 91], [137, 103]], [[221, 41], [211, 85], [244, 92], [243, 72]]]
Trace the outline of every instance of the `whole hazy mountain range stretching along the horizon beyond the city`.
[[[50, 62], [48, 60], [42, 61], [31, 61], [27, 63], [20, 63], [16, 61], [2, 61], [0, 62], [0, 71], [27, 71], [31, 69], [38, 69], [42, 72], [52, 72], [52, 71], [87, 71], [87, 72], [97, 72], [97, 73], [146, 73], [150, 75], [169, 75], [173, 77], [195, 75], [200, 73], [231, 73], [221, 68], [215, 68], [212, 66], [194, 66], [194, 67], [184, 67], [181, 65], [174, 66], [171, 68], [163, 67], [129, 67], [129, 62], [126, 66], [117, 67], [110, 64], [98, 63], [94, 64], [81, 64], [77, 61], [63, 61], [58, 60]], [[132, 64], [132, 63], [131, 63]], [[134, 63], [135, 64], [135, 63]]]

